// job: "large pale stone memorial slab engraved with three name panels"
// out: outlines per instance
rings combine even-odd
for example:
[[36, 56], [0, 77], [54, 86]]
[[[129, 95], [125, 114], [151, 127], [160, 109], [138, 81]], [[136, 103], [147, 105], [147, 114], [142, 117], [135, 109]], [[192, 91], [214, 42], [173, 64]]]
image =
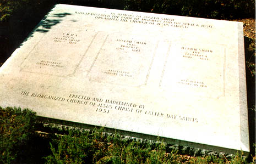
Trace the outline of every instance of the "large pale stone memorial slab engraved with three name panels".
[[0, 67], [0, 105], [249, 152], [242, 22], [57, 4]]

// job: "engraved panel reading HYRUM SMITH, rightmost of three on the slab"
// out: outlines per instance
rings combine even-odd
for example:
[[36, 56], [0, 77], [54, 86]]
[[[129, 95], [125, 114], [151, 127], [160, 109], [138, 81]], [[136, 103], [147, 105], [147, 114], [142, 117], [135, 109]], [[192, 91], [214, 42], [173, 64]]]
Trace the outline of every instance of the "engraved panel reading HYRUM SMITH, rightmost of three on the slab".
[[225, 94], [224, 80], [223, 46], [176, 43], [166, 56], [160, 87], [201, 97], [219, 98]]

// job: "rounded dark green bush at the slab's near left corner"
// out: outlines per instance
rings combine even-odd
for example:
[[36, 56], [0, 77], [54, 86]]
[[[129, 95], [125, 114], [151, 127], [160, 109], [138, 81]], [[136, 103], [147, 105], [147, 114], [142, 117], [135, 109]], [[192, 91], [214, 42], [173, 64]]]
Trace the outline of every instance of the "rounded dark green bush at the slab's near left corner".
[[35, 118], [28, 109], [0, 107], [0, 163], [12, 163], [24, 155], [35, 135]]

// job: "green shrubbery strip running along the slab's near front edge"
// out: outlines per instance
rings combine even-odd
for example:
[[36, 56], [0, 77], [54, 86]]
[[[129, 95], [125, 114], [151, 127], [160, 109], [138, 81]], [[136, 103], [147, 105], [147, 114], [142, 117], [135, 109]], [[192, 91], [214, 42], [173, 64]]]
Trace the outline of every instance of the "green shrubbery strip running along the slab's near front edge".
[[[189, 156], [164, 142], [80, 128], [57, 128], [35, 112], [0, 108], [0, 163], [254, 163], [237, 154]], [[182, 147], [182, 146], [181, 146]]]

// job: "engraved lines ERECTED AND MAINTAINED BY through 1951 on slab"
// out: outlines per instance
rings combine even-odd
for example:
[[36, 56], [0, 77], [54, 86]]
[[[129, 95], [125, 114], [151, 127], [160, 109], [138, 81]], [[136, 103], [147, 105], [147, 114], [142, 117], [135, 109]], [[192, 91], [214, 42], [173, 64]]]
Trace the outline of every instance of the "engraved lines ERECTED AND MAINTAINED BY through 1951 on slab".
[[[23, 97], [31, 97], [45, 101], [56, 101], [58, 103], [72, 103], [73, 105], [83, 105], [84, 110], [94, 109], [99, 115], [115, 114], [123, 112], [132, 115], [144, 115], [148, 117], [155, 117], [166, 119], [166, 121], [179, 121], [184, 123], [198, 123], [199, 119], [194, 116], [178, 115], [174, 113], [160, 112], [150, 109], [150, 106], [145, 104], [134, 103], [129, 101], [120, 101], [116, 99], [104, 99], [99, 97], [90, 97], [88, 95], [80, 95], [70, 93], [69, 95], [59, 96], [47, 93], [36, 93], [23, 91], [20, 93]], [[89, 109], [89, 110], [90, 110]], [[143, 117], [144, 117], [143, 116]]]

